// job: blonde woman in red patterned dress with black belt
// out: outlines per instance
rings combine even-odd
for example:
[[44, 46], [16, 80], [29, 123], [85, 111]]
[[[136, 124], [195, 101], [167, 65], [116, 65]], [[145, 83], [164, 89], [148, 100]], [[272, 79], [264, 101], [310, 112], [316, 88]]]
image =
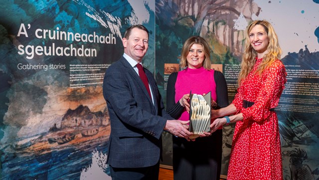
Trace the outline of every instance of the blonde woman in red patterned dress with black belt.
[[[287, 82], [281, 49], [272, 25], [253, 21], [233, 102], [212, 110], [211, 131], [236, 122], [227, 180], [283, 180], [278, 118], [274, 109]], [[227, 117], [228, 115], [233, 115]]]

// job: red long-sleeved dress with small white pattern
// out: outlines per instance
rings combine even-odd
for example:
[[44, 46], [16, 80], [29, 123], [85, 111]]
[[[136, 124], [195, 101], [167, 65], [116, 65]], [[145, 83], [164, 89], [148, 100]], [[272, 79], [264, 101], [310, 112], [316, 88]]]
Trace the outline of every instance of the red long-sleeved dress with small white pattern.
[[[287, 72], [276, 60], [261, 76], [254, 74], [261, 60], [256, 58], [232, 102], [244, 119], [236, 123], [227, 180], [283, 180], [278, 118], [269, 110], [278, 106]], [[245, 109], [243, 100], [255, 104]]]

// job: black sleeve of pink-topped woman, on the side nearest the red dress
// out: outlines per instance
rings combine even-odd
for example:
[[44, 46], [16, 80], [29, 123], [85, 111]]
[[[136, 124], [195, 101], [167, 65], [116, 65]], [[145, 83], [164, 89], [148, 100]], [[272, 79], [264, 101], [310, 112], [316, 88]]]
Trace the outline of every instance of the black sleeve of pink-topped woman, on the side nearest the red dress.
[[227, 90], [227, 83], [224, 77], [224, 74], [220, 71], [214, 71], [214, 80], [216, 83], [216, 96], [217, 96], [217, 108], [224, 108], [228, 106], [228, 90]]

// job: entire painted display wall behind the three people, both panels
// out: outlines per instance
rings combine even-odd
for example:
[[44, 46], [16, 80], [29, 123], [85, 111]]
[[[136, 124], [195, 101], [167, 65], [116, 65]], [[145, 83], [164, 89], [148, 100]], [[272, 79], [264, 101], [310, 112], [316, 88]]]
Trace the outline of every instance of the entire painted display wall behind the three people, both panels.
[[[1, 1], [0, 179], [110, 179], [105, 164], [110, 126], [102, 80], [105, 69], [122, 56], [121, 39], [130, 25], [143, 24], [150, 30], [143, 63], [154, 72], [164, 100], [169, 74], [180, 70], [177, 57], [183, 42], [199, 35], [210, 44], [212, 68], [226, 77], [231, 101], [237, 89], [244, 30], [254, 19], [274, 25], [288, 72], [286, 90], [276, 108], [284, 178], [318, 179], [318, 3]], [[53, 32], [77, 34], [77, 38], [53, 37]], [[96, 41], [90, 35], [96, 35]], [[76, 49], [72, 55], [71, 49]], [[223, 175], [233, 129], [223, 130]], [[161, 166], [170, 167], [171, 137], [164, 133], [162, 139]]]

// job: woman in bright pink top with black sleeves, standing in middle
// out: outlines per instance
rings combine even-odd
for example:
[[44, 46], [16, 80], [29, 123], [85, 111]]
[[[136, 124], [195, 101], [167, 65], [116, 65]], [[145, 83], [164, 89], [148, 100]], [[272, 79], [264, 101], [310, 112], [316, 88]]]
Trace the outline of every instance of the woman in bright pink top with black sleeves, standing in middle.
[[[207, 42], [199, 37], [188, 38], [182, 48], [179, 72], [170, 74], [167, 82], [166, 111], [176, 120], [189, 120], [189, 92], [206, 94], [217, 102], [214, 108], [228, 105], [227, 84], [220, 71], [210, 69]], [[222, 155], [222, 128], [211, 136], [195, 141], [173, 136], [174, 180], [219, 180]]]

